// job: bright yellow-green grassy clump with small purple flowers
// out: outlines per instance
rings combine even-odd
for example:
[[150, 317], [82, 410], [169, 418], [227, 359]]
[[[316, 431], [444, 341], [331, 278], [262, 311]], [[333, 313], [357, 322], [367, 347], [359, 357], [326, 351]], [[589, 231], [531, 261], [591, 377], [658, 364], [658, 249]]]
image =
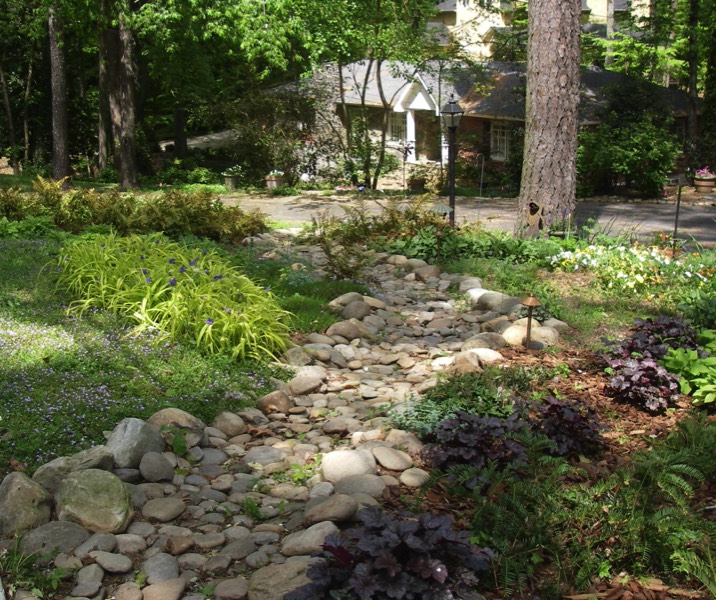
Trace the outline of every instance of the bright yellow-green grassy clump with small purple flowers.
[[101, 235], [60, 252], [58, 286], [79, 314], [101, 308], [210, 354], [266, 359], [287, 345], [288, 313], [217, 253], [161, 234]]

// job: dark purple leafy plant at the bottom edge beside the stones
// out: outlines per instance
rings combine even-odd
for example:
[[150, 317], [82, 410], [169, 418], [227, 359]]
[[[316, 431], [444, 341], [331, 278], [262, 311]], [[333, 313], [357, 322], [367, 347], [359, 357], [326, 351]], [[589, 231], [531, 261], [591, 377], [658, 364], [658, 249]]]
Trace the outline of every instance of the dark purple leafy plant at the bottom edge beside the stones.
[[360, 526], [326, 538], [325, 560], [308, 570], [312, 583], [284, 600], [467, 599], [477, 575], [490, 567], [492, 551], [471, 544], [470, 534], [453, 529], [445, 515], [396, 517], [372, 507], [359, 516]]

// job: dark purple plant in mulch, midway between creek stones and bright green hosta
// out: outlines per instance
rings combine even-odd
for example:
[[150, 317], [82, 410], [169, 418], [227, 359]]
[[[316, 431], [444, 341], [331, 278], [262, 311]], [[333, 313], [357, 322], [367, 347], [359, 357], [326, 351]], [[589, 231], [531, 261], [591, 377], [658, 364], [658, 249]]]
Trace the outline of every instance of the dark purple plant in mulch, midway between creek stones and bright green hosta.
[[546, 435], [555, 443], [555, 456], [590, 455], [601, 449], [606, 428], [596, 411], [582, 400], [559, 400], [554, 396], [530, 405], [535, 418], [533, 431]]

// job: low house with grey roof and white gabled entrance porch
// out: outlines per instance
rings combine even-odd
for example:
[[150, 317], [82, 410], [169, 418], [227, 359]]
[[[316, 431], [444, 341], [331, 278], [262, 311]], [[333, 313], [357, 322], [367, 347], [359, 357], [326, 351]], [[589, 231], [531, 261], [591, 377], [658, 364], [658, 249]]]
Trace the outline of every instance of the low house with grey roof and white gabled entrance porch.
[[[582, 69], [580, 125], [598, 124], [609, 90], [624, 86], [627, 80], [627, 75], [618, 72]], [[683, 130], [688, 95], [654, 84], [645, 85], [671, 111], [676, 130]], [[367, 113], [374, 139], [382, 131], [383, 115], [387, 112], [386, 148], [402, 155], [407, 163], [421, 163], [447, 159], [440, 111], [454, 98], [465, 111], [459, 129], [462, 151], [482, 154], [495, 163], [493, 166], [499, 166], [514, 151], [513, 130], [524, 126], [525, 86], [522, 63], [456, 67], [435, 62], [417, 70], [400, 63], [361, 61], [343, 68], [341, 102], [348, 114], [358, 110]]]

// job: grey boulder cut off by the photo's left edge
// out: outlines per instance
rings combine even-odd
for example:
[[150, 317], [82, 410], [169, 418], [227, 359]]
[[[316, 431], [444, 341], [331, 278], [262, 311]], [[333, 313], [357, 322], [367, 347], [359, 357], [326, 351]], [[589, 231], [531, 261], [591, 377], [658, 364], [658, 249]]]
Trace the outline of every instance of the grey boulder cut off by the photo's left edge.
[[0, 537], [12, 537], [50, 520], [52, 498], [24, 473], [10, 473], [0, 484]]

